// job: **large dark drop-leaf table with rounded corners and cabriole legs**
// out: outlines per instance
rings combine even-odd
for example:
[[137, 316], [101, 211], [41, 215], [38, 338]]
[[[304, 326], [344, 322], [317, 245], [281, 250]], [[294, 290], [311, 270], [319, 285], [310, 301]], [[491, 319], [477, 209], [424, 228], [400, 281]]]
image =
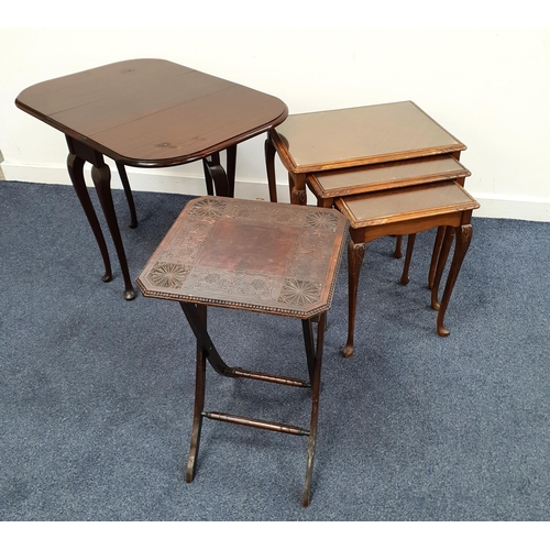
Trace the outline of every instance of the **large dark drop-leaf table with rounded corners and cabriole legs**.
[[[279, 99], [164, 59], [131, 59], [54, 78], [23, 90], [23, 111], [66, 135], [67, 168], [111, 280], [109, 254], [82, 168], [91, 176], [124, 278], [124, 298], [135, 295], [111, 197], [112, 158], [138, 221], [124, 166], [155, 168], [204, 160], [207, 188], [232, 196], [237, 144], [283, 122]], [[219, 152], [228, 152], [227, 170]]]

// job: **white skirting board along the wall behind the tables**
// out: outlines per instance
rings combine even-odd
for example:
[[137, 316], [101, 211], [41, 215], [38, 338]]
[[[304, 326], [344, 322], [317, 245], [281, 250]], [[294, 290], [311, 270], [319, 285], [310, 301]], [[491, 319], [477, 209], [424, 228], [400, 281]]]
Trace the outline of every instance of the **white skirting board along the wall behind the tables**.
[[[70, 185], [67, 169], [64, 166], [21, 166], [3, 163], [1, 165], [3, 178], [15, 182], [31, 182], [41, 184]], [[177, 174], [174, 168], [138, 169], [127, 168], [130, 185], [135, 191], [176, 193], [193, 196], [206, 195], [206, 186], [202, 174]], [[121, 189], [122, 184], [111, 166], [112, 188]], [[278, 175], [278, 174], [277, 174]], [[277, 183], [277, 197], [279, 202], [289, 202], [288, 184]], [[89, 165], [85, 167], [85, 178], [92, 186]], [[481, 204], [481, 208], [474, 210], [474, 216], [483, 218], [508, 218], [516, 220], [550, 222], [550, 201], [525, 200], [519, 197], [499, 197], [497, 195], [476, 195], [471, 189], [469, 193]], [[235, 197], [252, 200], [270, 200], [267, 182], [237, 180]], [[316, 200], [308, 194], [308, 204], [315, 205]]]

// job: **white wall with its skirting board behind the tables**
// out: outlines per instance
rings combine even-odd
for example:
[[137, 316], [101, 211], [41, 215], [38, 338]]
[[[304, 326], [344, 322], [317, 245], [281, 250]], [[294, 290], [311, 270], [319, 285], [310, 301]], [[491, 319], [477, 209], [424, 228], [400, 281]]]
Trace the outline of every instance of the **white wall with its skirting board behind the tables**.
[[[234, 2], [227, 4], [238, 9]], [[479, 216], [550, 221], [550, 176], [544, 169], [550, 157], [550, 29], [535, 28], [532, 21], [522, 28], [509, 22], [465, 26], [464, 14], [458, 19], [460, 28], [449, 24], [452, 14], [446, 15], [450, 20], [428, 21], [426, 28], [381, 28], [372, 22], [361, 26], [369, 21], [367, 11], [344, 28], [349, 10], [341, 3], [334, 4], [341, 8], [334, 25], [320, 28], [317, 23], [330, 25], [331, 19], [300, 19], [305, 12], [299, 6], [289, 3], [285, 12], [280, 2], [252, 2], [250, 10], [262, 7], [264, 19], [258, 14], [243, 26], [224, 26], [220, 15], [226, 12], [213, 7], [202, 18], [198, 12], [191, 18], [205, 25], [210, 13], [213, 29], [189, 23], [1, 29], [0, 150], [6, 179], [68, 183], [64, 136], [15, 108], [22, 89], [125, 58], [161, 57], [277, 96], [290, 113], [410, 99], [468, 145], [461, 160], [472, 172], [466, 188], [482, 204]], [[460, 4], [453, 10], [460, 11]], [[270, 12], [277, 24], [256, 26]], [[109, 13], [111, 23], [123, 21], [117, 10]], [[183, 21], [182, 10], [168, 13]], [[147, 14], [143, 16], [145, 24]], [[267, 198], [263, 141], [256, 138], [240, 146], [238, 196]], [[198, 163], [130, 170], [130, 178], [135, 189], [205, 189]], [[277, 182], [282, 200], [288, 200], [280, 164]]]

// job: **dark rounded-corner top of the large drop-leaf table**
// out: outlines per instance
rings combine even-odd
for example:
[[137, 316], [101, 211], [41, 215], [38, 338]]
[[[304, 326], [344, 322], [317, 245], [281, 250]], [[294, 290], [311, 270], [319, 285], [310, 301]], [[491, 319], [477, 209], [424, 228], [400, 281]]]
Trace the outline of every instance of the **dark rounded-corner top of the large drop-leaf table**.
[[129, 166], [175, 166], [283, 122], [279, 99], [164, 59], [132, 59], [23, 90], [23, 111]]

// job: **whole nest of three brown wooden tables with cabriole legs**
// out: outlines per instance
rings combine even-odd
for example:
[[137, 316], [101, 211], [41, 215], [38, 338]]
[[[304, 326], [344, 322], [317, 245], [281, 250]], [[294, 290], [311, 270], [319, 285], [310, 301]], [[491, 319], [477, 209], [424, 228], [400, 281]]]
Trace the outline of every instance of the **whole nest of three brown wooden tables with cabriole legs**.
[[[460, 162], [465, 145], [413, 101], [293, 114], [265, 142], [270, 196], [277, 200], [275, 153], [288, 170], [290, 202], [306, 204], [306, 186], [323, 208], [350, 221], [349, 319], [344, 356], [353, 354], [359, 274], [365, 243], [397, 237], [394, 255], [408, 234], [402, 283], [416, 232], [438, 228], [428, 286], [438, 311], [437, 332], [447, 336], [444, 312], [471, 241], [471, 216], [479, 204], [464, 191], [470, 170]], [[439, 284], [453, 237], [455, 251], [441, 302]]]

